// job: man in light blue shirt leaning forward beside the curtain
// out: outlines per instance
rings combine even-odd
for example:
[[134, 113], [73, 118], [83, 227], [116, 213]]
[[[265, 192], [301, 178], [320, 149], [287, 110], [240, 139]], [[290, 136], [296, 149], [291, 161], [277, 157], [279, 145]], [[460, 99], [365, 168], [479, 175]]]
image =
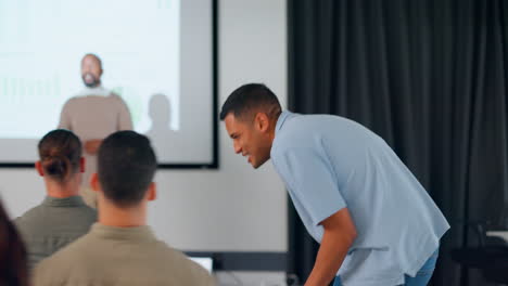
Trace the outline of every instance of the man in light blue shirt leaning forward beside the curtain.
[[259, 83], [234, 90], [220, 119], [254, 168], [271, 158], [320, 243], [306, 286], [427, 285], [449, 224], [380, 136], [343, 117], [282, 112]]

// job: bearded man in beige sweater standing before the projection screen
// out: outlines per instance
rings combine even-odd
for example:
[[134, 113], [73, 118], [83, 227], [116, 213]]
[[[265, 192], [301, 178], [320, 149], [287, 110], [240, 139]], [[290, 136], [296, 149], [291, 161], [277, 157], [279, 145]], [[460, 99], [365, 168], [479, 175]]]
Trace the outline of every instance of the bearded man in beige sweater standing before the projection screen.
[[102, 74], [101, 58], [86, 54], [81, 60], [85, 89], [65, 103], [59, 123], [59, 128], [72, 130], [82, 141], [87, 168], [81, 195], [91, 207], [97, 207], [97, 198], [90, 190], [90, 177], [96, 172], [97, 151], [102, 139], [118, 130], [132, 129], [127, 104], [119, 95], [102, 87]]

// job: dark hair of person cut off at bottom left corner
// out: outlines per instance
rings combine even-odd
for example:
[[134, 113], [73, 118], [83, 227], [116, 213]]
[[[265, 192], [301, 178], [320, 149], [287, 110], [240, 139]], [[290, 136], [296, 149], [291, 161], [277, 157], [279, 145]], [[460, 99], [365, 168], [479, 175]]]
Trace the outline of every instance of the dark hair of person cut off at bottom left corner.
[[28, 285], [26, 250], [0, 202], [0, 285]]

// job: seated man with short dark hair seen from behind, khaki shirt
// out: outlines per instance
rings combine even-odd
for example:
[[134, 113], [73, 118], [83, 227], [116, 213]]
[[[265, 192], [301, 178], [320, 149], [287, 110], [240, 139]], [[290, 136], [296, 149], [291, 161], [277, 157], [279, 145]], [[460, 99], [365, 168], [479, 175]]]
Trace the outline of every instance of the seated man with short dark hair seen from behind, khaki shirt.
[[148, 203], [156, 197], [150, 140], [115, 132], [99, 147], [98, 164], [91, 182], [99, 222], [42, 261], [35, 285], [215, 285], [206, 270], [157, 240], [147, 225]]

